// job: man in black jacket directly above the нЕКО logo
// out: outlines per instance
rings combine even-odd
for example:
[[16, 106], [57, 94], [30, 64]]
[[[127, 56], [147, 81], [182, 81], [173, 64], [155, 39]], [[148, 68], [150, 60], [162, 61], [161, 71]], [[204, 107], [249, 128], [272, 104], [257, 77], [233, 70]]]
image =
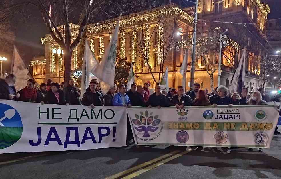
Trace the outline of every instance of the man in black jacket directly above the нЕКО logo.
[[184, 87], [178, 86], [178, 95], [172, 98], [172, 105], [179, 109], [184, 108], [184, 106], [191, 106], [192, 104], [193, 100], [190, 96], [184, 94]]

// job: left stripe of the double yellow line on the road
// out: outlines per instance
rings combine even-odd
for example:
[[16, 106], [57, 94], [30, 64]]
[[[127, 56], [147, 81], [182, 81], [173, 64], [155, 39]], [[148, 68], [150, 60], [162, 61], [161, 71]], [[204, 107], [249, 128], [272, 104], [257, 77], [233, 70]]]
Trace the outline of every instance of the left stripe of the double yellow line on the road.
[[174, 155], [174, 154], [176, 154], [176, 153], [178, 153], [178, 152], [180, 152], [180, 150], [172, 151], [172, 152], [170, 152], [170, 153], [168, 153], [168, 154], [165, 154], [165, 155], [160, 156], [160, 157], [158, 157], [158, 158], [152, 159], [152, 160], [150, 160], [150, 161], [148, 161], [148, 162], [144, 162], [144, 163], [142, 163], [142, 164], [139, 164], [139, 165], [137, 165], [137, 166], [134, 166], [134, 167], [132, 167], [132, 168], [129, 168], [129, 169], [127, 169], [127, 170], [124, 170], [124, 171], [122, 171], [122, 172], [119, 172], [119, 173], [117, 173], [117, 174], [115, 174], [115, 175], [109, 176], [109, 177], [107, 177], [107, 178], [105, 178], [105, 179], [115, 179], [115, 178], [119, 178], [119, 177], [121, 177], [121, 176], [123, 176], [123, 175], [125, 175], [125, 174], [131, 173], [131, 172], [133, 172], [133, 171], [135, 171], [135, 170], [138, 170], [138, 169], [140, 169], [140, 168], [143, 168], [143, 167], [145, 167], [145, 166], [147, 166], [147, 165], [149, 165], [149, 164], [153, 164], [154, 162], [157, 162], [157, 161], [159, 161], [159, 160], [162, 160], [163, 158], [172, 156], [172, 155]]

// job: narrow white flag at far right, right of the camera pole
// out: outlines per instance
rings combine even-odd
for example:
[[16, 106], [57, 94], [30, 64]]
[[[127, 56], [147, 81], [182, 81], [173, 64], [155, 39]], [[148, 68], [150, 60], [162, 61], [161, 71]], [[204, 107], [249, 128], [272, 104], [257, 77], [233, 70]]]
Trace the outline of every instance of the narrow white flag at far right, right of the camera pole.
[[243, 50], [243, 54], [238, 62], [238, 66], [232, 76], [230, 85], [228, 87], [230, 93], [238, 92], [241, 94], [244, 87], [245, 80], [245, 62], [246, 62], [246, 49]]

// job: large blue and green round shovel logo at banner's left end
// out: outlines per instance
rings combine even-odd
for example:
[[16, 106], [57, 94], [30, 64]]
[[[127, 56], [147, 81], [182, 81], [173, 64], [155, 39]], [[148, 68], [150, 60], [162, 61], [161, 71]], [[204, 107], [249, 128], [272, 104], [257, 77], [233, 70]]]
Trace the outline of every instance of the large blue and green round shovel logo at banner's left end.
[[10, 147], [22, 135], [23, 124], [17, 110], [13, 107], [0, 104], [0, 149]]

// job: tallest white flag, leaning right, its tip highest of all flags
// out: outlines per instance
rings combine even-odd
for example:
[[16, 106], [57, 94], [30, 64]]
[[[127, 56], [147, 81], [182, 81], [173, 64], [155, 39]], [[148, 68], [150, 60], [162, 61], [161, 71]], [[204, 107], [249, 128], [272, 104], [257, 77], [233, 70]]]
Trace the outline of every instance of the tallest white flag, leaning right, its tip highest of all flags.
[[114, 86], [117, 40], [121, 15], [122, 14], [120, 14], [119, 19], [116, 23], [114, 33], [109, 42], [109, 46], [105, 50], [101, 64], [99, 65], [99, 67], [91, 70], [91, 72], [101, 80], [99, 86], [103, 94], [107, 93], [110, 86]]

